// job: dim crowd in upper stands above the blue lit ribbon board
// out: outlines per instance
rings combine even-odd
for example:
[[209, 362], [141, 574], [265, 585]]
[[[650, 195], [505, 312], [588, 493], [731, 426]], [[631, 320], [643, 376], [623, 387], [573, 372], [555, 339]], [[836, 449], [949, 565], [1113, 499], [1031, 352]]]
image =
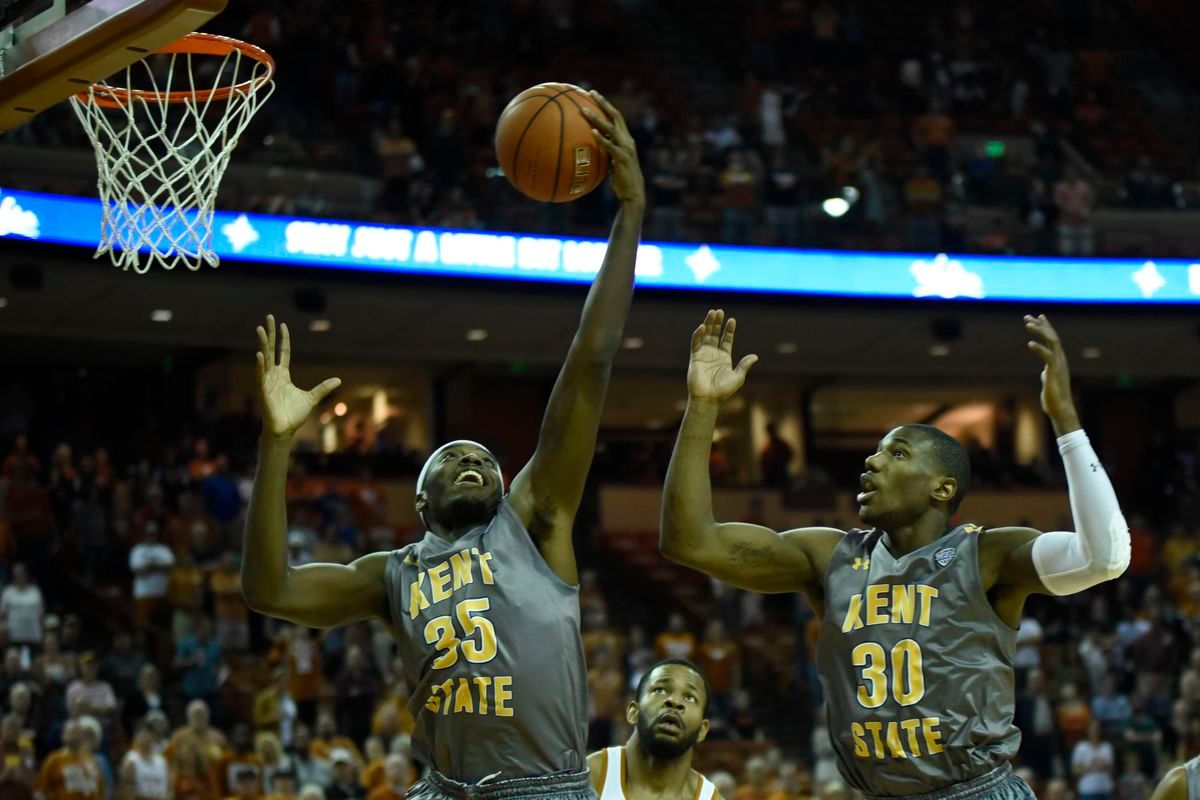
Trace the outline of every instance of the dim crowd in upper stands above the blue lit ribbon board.
[[[1194, 154], [1146, 122], [1147, 67], [1126, 58], [1134, 49], [1148, 59], [1153, 42], [1127, 41], [1138, 25], [1115, 5], [234, 7], [210, 30], [263, 46], [280, 65], [278, 91], [236, 161], [312, 172], [302, 187], [266, 181], [226, 204], [602, 235], [608, 192], [512, 203], [496, 169], [492, 134], [508, 98], [554, 79], [599, 88], [623, 109], [655, 240], [1105, 252], [1091, 223], [1102, 203], [1190, 207], [1200, 196]], [[1178, 83], [1157, 76], [1153, 88], [1164, 95]], [[14, 140], [86, 146], [68, 114], [47, 113]], [[328, 170], [377, 178], [379, 190], [340, 206], [322, 192]], [[850, 200], [850, 212], [826, 216], [832, 197]], [[1018, 222], [968, 233], [968, 206], [1006, 209]]]

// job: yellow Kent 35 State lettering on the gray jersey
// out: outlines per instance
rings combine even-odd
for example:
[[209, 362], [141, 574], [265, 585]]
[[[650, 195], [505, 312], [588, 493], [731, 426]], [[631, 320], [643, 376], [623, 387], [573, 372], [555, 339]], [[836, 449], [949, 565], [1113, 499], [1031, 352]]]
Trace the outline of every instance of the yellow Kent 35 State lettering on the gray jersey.
[[[496, 585], [491, 567], [492, 554], [478, 547], [463, 548], [437, 566], [422, 570], [408, 588], [408, 616], [426, 620], [425, 643], [433, 645], [428, 669], [449, 669], [462, 658], [472, 664], [494, 661], [496, 627], [487, 619], [488, 597], [466, 597], [462, 590], [476, 579]], [[406, 564], [416, 564], [413, 555]], [[455, 621], [458, 622], [457, 627]], [[460, 639], [457, 631], [464, 638]], [[512, 716], [511, 675], [470, 675], [433, 682], [425, 708], [433, 714], [492, 714]]]

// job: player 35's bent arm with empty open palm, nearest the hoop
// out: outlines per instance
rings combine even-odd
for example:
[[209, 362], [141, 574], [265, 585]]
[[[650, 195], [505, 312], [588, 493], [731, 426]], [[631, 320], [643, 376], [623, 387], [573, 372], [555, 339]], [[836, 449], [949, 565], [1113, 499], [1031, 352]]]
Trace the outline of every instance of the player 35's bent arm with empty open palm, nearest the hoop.
[[278, 361], [275, 355], [275, 318], [258, 327], [258, 402], [263, 433], [258, 444], [258, 471], [246, 513], [241, 591], [246, 604], [260, 614], [307, 627], [334, 627], [371, 616], [389, 619], [384, 594], [386, 553], [365, 555], [350, 565], [288, 566], [287, 497], [288, 455], [296, 429], [329, 392], [341, 385], [330, 378], [304, 391], [292, 384], [292, 341], [280, 327]]

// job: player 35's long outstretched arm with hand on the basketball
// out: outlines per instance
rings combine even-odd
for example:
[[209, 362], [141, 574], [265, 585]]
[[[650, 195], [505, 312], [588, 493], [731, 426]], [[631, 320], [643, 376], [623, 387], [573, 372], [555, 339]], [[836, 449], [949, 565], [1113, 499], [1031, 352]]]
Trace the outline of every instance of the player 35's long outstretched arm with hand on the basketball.
[[620, 200], [600, 273], [592, 284], [578, 331], [550, 395], [529, 463], [512, 479], [509, 500], [550, 567], [577, 583], [571, 528], [595, 452], [608, 374], [620, 347], [634, 294], [634, 266], [646, 211], [646, 187], [625, 120], [598, 92], [608, 115], [584, 109], [596, 142], [612, 162], [612, 190]]

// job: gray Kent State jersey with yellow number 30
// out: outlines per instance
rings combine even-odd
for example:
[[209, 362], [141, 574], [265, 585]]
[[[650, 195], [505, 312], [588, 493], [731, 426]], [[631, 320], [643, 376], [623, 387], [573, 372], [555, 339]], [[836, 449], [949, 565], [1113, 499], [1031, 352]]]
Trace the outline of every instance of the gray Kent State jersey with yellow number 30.
[[871, 795], [936, 792], [1016, 754], [1013, 654], [979, 577], [978, 525], [893, 558], [852, 530], [824, 577], [817, 668], [846, 781]]

